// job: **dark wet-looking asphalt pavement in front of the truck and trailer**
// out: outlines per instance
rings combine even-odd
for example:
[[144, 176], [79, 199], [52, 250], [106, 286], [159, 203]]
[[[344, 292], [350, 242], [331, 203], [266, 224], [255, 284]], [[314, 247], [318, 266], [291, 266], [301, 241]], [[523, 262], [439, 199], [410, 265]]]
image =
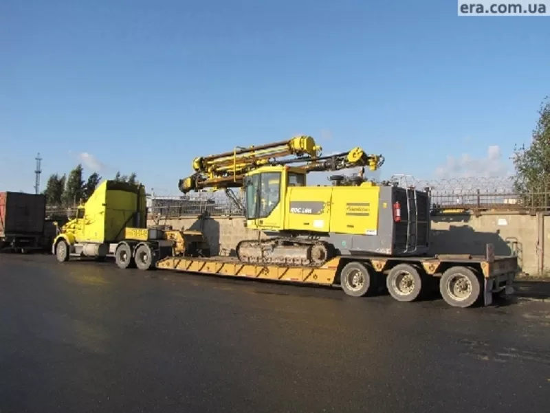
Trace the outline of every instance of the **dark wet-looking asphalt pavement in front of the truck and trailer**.
[[0, 412], [550, 411], [550, 304], [0, 255]]

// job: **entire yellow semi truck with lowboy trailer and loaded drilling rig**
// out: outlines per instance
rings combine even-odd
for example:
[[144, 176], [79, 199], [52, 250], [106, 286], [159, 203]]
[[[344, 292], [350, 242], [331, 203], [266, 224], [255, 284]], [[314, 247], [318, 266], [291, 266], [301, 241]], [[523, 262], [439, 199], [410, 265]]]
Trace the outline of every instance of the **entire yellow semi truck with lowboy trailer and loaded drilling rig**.
[[[287, 155], [301, 165], [276, 159]], [[104, 181], [61, 228], [52, 253], [60, 262], [114, 256], [123, 269], [336, 284], [353, 297], [385, 284], [401, 302], [417, 300], [436, 281], [445, 302], [456, 307], [488, 305], [494, 293], [511, 293], [517, 258], [494, 256], [490, 244], [485, 256], [427, 255], [426, 192], [376, 185], [363, 179], [363, 170], [359, 179], [332, 177], [333, 186], [306, 184], [312, 171], [375, 170], [382, 159], [360, 148], [321, 157], [311, 137], [195, 159], [195, 174], [179, 181], [182, 192], [243, 188], [247, 225], [272, 234], [241, 241], [236, 257], [210, 256], [201, 232], [147, 228], [144, 188]]]

